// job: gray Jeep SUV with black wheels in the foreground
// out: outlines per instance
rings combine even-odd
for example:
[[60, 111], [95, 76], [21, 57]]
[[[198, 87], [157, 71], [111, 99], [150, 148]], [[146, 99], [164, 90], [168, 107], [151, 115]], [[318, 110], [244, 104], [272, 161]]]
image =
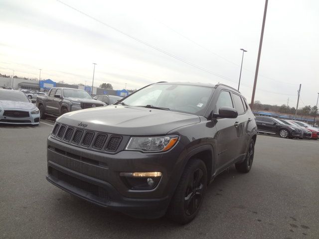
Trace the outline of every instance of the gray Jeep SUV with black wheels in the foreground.
[[250, 171], [256, 136], [237, 90], [160, 82], [59, 117], [47, 139], [47, 180], [133, 217], [185, 224], [216, 175], [232, 164]]

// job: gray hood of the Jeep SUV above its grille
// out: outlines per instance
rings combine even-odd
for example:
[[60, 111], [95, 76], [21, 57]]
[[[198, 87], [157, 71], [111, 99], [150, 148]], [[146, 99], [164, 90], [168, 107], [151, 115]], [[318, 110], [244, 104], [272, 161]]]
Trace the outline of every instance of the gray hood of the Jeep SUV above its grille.
[[122, 135], [160, 135], [172, 129], [200, 122], [198, 116], [144, 107], [107, 106], [64, 114], [61, 123]]

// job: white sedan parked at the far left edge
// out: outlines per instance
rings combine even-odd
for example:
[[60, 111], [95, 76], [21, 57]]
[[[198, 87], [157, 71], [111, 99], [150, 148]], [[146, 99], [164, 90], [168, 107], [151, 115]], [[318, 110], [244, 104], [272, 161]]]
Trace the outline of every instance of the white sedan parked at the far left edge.
[[0, 89], [0, 123], [40, 123], [39, 109], [23, 92]]

